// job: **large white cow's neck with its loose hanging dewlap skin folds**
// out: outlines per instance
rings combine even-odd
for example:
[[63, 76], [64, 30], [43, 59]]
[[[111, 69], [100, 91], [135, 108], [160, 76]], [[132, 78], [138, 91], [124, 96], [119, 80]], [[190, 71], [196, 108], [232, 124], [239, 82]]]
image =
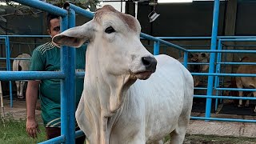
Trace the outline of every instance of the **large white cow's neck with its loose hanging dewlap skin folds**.
[[[119, 108], [122, 106], [126, 91], [135, 80], [130, 80], [130, 75], [107, 75], [99, 65], [102, 57], [98, 55], [98, 49], [95, 47], [92, 46], [93, 49], [88, 47], [86, 51], [85, 101], [93, 106], [90, 109], [94, 109], [92, 110], [94, 114], [90, 115], [99, 126], [93, 128], [98, 134], [94, 136], [94, 140], [98, 138], [100, 139], [98, 143], [107, 144], [110, 137], [109, 129], [120, 113]], [[95, 125], [92, 123], [91, 126]]]

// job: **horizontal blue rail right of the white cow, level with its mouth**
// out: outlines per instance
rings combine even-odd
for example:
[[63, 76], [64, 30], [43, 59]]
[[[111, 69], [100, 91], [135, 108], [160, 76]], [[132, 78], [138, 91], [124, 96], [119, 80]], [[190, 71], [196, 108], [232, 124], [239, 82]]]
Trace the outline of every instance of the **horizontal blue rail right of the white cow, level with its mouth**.
[[191, 74], [203, 75], [203, 76], [256, 77], [256, 74], [218, 74], [218, 73], [191, 73]]

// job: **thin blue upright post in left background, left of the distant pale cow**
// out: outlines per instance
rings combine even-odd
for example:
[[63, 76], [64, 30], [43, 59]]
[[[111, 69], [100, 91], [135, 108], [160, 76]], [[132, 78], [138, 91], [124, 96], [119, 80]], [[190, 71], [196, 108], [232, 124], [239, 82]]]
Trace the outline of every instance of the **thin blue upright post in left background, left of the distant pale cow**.
[[[9, 37], [6, 36], [6, 70], [10, 71], [10, 41]], [[10, 107], [13, 107], [13, 89], [11, 85], [11, 81], [9, 81], [9, 93], [10, 93]]]

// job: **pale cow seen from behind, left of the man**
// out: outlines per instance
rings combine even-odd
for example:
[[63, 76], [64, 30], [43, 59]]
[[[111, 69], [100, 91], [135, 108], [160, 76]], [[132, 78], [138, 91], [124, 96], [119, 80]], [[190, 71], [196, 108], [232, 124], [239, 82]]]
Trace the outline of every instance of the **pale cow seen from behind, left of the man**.
[[[16, 58], [31, 58], [30, 54], [19, 54]], [[30, 70], [30, 60], [14, 59], [13, 71], [28, 71]], [[24, 98], [23, 89], [25, 81], [15, 81], [17, 86], [17, 97]]]

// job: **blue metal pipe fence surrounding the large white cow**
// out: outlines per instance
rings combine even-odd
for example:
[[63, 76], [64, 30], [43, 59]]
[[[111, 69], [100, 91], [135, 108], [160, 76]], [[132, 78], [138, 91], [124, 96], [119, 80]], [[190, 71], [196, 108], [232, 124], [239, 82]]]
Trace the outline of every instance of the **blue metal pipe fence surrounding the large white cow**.
[[[56, 6], [51, 6], [46, 2], [41, 2], [39, 0], [14, 0], [14, 2], [22, 3], [26, 6], [32, 6], [39, 10], [45, 10], [53, 14], [58, 14], [62, 16], [62, 30], [66, 30], [70, 27], [74, 26], [74, 11], [78, 14], [86, 16], [88, 18], [92, 18], [94, 14], [81, 9], [78, 6], [74, 6], [70, 4], [70, 10], [63, 10]], [[245, 119], [231, 119], [231, 118], [210, 118], [210, 109], [211, 109], [211, 101], [212, 98], [229, 98], [229, 99], [251, 99], [255, 100], [255, 98], [241, 98], [241, 97], [224, 97], [224, 96], [214, 96], [212, 95], [213, 87], [214, 87], [214, 77], [217, 76], [250, 76], [254, 77], [255, 74], [222, 74], [219, 72], [214, 72], [214, 62], [215, 62], [215, 54], [216, 53], [256, 53], [256, 50], [222, 50], [217, 49], [217, 40], [220, 41], [255, 41], [256, 37], [217, 37], [218, 31], [218, 8], [219, 8], [219, 0], [214, 1], [214, 21], [213, 21], [213, 31], [211, 37], [211, 46], [210, 50], [186, 50], [182, 46], [177, 46], [173, 43], [166, 42], [162, 39], [165, 38], [155, 38], [148, 34], [141, 34], [142, 38], [149, 39], [154, 41], [154, 54], [159, 54], [160, 44], [164, 44], [166, 46], [174, 47], [178, 50], [182, 50], [184, 52], [184, 66], [187, 66], [187, 58], [188, 53], [193, 52], [208, 52], [210, 53], [210, 70], [209, 73], [194, 73], [194, 75], [206, 75], [208, 76], [208, 85], [207, 85], [207, 94], [206, 95], [195, 95], [194, 97], [198, 98], [206, 98], [206, 116], [205, 117], [191, 117], [192, 119], [199, 120], [214, 120], [214, 121], [227, 121], [227, 122], [256, 122], [256, 120], [245, 120]], [[242, 39], [244, 38], [244, 39]], [[178, 39], [178, 38], [177, 38]], [[189, 38], [188, 38], [189, 39]], [[196, 39], [196, 38], [190, 38]], [[199, 38], [200, 39], [200, 38]], [[201, 38], [204, 39], [204, 38]], [[219, 43], [218, 43], [219, 44]], [[218, 45], [219, 46], [219, 45]], [[8, 54], [6, 54], [8, 55]], [[62, 119], [62, 135], [58, 138], [51, 139], [42, 143], [51, 143], [51, 142], [66, 142], [66, 143], [74, 143], [74, 138], [81, 136], [82, 131], [78, 131], [74, 133], [74, 78], [75, 76], [82, 77], [82, 73], [74, 72], [74, 49], [68, 48], [67, 46], [63, 46], [61, 52], [61, 71], [60, 72], [10, 72], [10, 71], [1, 71], [0, 80], [21, 80], [21, 79], [45, 79], [45, 78], [59, 78], [62, 79], [61, 83], [61, 95], [62, 95], [62, 111], [61, 111], [61, 119]], [[221, 58], [219, 55], [217, 58]], [[67, 61], [68, 60], [68, 61]], [[220, 60], [217, 60], [218, 64], [221, 64]], [[7, 62], [8, 63], [8, 62]], [[10, 62], [9, 62], [10, 63]], [[71, 67], [71, 68], [70, 68]], [[215, 82], [218, 82], [218, 80]], [[68, 88], [67, 88], [68, 86]], [[218, 88], [218, 90], [221, 90]], [[224, 89], [222, 89], [224, 90]], [[69, 96], [69, 97], [68, 97]], [[71, 97], [73, 96], [73, 97]]]

